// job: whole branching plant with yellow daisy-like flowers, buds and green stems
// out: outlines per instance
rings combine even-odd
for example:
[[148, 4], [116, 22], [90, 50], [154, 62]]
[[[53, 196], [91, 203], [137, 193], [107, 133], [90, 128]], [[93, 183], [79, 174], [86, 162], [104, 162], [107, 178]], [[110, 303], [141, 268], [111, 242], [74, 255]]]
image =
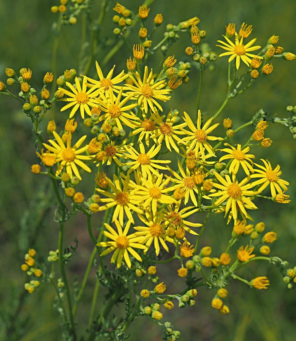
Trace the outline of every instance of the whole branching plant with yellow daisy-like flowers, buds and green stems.
[[[60, 0], [59, 6], [52, 7], [53, 13], [59, 13], [59, 29], [75, 25], [78, 14], [92, 6], [88, 0], [72, 2], [75, 5]], [[155, 43], [152, 34], [162, 25], [163, 17], [157, 14], [154, 29], [148, 31], [147, 5], [146, 1], [137, 12], [119, 3], [113, 8], [117, 13], [113, 16], [113, 32], [119, 39], [114, 46], [126, 44], [130, 52], [124, 57], [126, 70], [120, 72], [114, 65], [106, 71], [104, 61], [95, 61], [97, 75], [91, 78], [93, 51], [80, 72], [66, 70], [55, 81], [51, 72], [46, 73], [39, 94], [32, 84], [32, 71], [27, 68], [22, 68], [19, 76], [6, 68], [7, 87], [0, 82], [0, 93], [20, 101], [31, 119], [36, 137], [36, 163], [31, 172], [49, 179], [55, 195], [58, 246], [48, 250], [44, 263], [32, 246], [21, 269], [29, 276], [25, 290], [30, 294], [46, 282], [52, 284], [63, 340], [82, 337], [92, 341], [103, 336], [124, 340], [128, 338], [127, 328], [138, 316], [160, 326], [164, 340], [176, 340], [180, 332], [171, 322], [161, 322], [165, 309], [192, 309], [198, 292], [210, 288], [212, 307], [228, 314], [231, 298], [226, 287], [231, 279], [258, 290], [268, 288], [269, 280], [261, 273], [253, 278], [241, 275], [241, 271], [238, 275], [239, 269], [255, 261], [275, 265], [288, 288], [296, 285], [296, 267], [269, 256], [277, 233], [251, 215], [264, 199], [274, 205], [290, 202], [285, 194], [289, 183], [285, 176], [282, 178], [280, 166], [258, 159], [254, 150], [272, 148], [266, 136], [270, 122], [283, 124], [296, 136], [296, 106], [287, 107], [287, 118], [270, 117], [260, 109], [238, 127], [225, 117], [221, 120], [225, 132], [217, 132], [227, 103], [254, 82], [272, 76], [271, 59], [291, 61], [295, 55], [283, 53], [283, 48], [277, 46], [278, 36], [271, 36], [261, 48], [253, 46], [256, 38], [248, 41], [252, 26], [243, 23], [238, 32], [234, 23], [226, 26], [226, 42], [218, 40], [217, 46], [227, 51], [219, 57], [230, 56], [228, 91], [216, 113], [206, 118], [200, 109], [203, 74], [217, 56], [203, 50], [207, 33], [197, 27], [200, 19], [167, 25], [164, 38]], [[105, 11], [103, 6], [102, 17]], [[131, 43], [129, 32], [136, 24], [140, 25], [139, 42]], [[184, 55], [190, 62], [177, 64], [175, 55], [167, 56], [179, 34], [190, 45]], [[160, 69], [149, 69], [158, 49], [162, 53]], [[171, 98], [191, 82], [188, 74], [193, 66], [200, 74], [196, 112], [187, 113], [181, 105], [171, 108]], [[11, 86], [19, 87], [18, 96], [10, 92]], [[56, 101], [66, 102], [60, 108], [59, 123], [50, 120], [43, 132], [40, 125], [49, 110], [58, 105]], [[246, 127], [252, 127], [252, 134], [245, 140], [237, 139], [236, 133]], [[93, 252], [83, 280], [72, 288], [65, 268], [74, 253], [79, 253], [78, 240], [72, 238], [76, 245], [65, 248], [64, 229], [72, 224], [67, 223], [70, 216], [78, 219], [79, 213], [85, 218], [81, 228], [93, 242]], [[204, 230], [209, 228], [207, 222], [214, 215], [224, 216], [229, 240], [224, 250], [212, 252], [211, 246], [201, 247], [201, 243]], [[182, 284], [175, 292], [167, 290], [168, 279], [162, 276], [161, 269], [168, 263], [178, 264], [174, 276]], [[89, 323], [82, 332], [77, 310], [93, 267], [96, 284]], [[97, 300], [104, 299], [100, 287], [107, 292], [97, 313]], [[112, 308], [122, 302], [125, 310], [119, 318], [113, 318]]]

